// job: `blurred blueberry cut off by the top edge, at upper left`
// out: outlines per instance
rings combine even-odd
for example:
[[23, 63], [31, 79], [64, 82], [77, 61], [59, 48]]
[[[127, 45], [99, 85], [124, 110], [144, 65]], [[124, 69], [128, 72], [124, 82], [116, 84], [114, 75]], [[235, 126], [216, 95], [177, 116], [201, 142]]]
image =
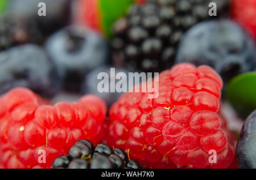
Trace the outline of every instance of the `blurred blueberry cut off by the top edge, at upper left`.
[[[40, 2], [46, 3], [46, 16], [38, 15]], [[35, 20], [43, 35], [50, 35], [68, 24], [71, 2], [69, 0], [11, 0], [9, 10], [12, 14]]]

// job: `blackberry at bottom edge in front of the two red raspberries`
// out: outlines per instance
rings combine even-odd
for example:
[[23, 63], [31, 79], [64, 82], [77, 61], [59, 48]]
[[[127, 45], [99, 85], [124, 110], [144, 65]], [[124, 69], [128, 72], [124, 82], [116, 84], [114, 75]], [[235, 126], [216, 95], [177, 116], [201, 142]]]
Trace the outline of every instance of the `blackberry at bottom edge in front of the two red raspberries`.
[[125, 151], [106, 144], [93, 146], [88, 140], [76, 142], [67, 156], [57, 157], [52, 168], [68, 169], [141, 169], [135, 160], [129, 160]]

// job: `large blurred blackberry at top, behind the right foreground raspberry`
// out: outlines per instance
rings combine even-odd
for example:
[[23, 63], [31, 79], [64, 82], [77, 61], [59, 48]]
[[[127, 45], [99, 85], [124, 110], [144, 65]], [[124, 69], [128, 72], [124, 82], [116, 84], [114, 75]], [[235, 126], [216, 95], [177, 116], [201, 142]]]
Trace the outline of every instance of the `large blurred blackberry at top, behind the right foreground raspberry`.
[[[216, 2], [217, 16], [209, 16]], [[229, 0], [148, 0], [134, 4], [113, 26], [112, 63], [146, 72], [159, 72], [174, 63], [185, 31], [205, 19], [229, 15]]]

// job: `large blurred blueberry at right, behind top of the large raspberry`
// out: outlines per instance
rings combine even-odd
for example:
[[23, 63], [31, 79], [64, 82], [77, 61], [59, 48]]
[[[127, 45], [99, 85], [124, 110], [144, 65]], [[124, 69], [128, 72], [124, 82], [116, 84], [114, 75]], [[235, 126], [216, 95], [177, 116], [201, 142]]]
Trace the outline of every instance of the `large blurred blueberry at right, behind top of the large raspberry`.
[[228, 82], [233, 76], [255, 70], [254, 42], [230, 20], [202, 22], [185, 34], [176, 63], [212, 66]]

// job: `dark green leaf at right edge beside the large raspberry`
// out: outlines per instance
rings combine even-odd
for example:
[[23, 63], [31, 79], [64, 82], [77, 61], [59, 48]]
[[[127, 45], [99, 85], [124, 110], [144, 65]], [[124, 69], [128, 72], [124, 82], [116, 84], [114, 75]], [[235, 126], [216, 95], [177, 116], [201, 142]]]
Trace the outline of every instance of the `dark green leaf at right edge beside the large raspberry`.
[[238, 114], [246, 118], [256, 109], [256, 72], [233, 78], [226, 88], [225, 95]]

